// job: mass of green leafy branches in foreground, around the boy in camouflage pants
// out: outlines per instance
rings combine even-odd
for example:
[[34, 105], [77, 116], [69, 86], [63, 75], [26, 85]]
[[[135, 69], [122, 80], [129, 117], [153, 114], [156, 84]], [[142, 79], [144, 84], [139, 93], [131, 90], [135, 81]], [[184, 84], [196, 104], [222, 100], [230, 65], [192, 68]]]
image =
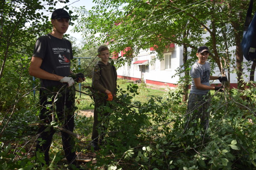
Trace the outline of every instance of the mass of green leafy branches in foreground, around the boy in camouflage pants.
[[[132, 104], [137, 90], [136, 85], [120, 89], [117, 102], [111, 103], [112, 110], [102, 108], [111, 112], [111, 123], [96, 166], [126, 169], [125, 164], [129, 164], [129, 169], [146, 170], [255, 168], [256, 110], [233, 90], [227, 101], [224, 94], [212, 96], [210, 127], [203, 136], [201, 129], [183, 131], [186, 104], [181, 104], [180, 90], [170, 91], [166, 100], [157, 97], [148, 103]], [[254, 90], [250, 94], [256, 95]], [[253, 103], [255, 99], [250, 100]]]

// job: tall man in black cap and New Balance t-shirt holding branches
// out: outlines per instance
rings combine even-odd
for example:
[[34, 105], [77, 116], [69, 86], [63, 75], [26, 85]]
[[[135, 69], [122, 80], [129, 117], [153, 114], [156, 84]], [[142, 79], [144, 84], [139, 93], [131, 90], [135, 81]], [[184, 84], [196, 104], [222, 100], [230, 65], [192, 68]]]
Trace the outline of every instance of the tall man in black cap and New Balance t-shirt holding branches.
[[[73, 59], [71, 43], [63, 38], [69, 27], [69, 13], [63, 9], [53, 11], [51, 22], [53, 30], [39, 37], [34, 47], [30, 65], [30, 75], [40, 78], [39, 100], [41, 106], [40, 120], [50, 124], [55, 118], [59, 126], [73, 132], [75, 81], [81, 83], [84, 76], [76, 76], [70, 69]], [[73, 75], [69, 77], [70, 75]], [[57, 100], [54, 97], [57, 95]], [[54, 105], [54, 107], [53, 107]], [[55, 130], [49, 126], [40, 126], [36, 151], [44, 153], [45, 164], [49, 164], [49, 149]], [[74, 138], [62, 131], [62, 143], [65, 157], [71, 164], [76, 158]]]

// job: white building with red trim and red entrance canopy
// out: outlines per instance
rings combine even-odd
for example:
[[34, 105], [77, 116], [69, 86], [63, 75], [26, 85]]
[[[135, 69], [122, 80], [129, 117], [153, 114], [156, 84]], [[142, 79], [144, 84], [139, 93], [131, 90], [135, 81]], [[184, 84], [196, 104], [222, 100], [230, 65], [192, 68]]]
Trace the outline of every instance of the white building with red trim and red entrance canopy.
[[[124, 50], [124, 52], [122, 51], [119, 54], [116, 53], [114, 58], [117, 58], [117, 55], [123, 56], [123, 54], [128, 50], [130, 49], [127, 48]], [[174, 75], [176, 73], [176, 69], [183, 64], [183, 47], [176, 44], [170, 44], [169, 49], [167, 49], [164, 53], [164, 60], [162, 61], [155, 59], [156, 53], [152, 53], [152, 51], [154, 51], [153, 47], [146, 51], [141, 50], [138, 56], [129, 58], [130, 62], [126, 62], [124, 66], [117, 69], [118, 78], [124, 78], [133, 81], [144, 79], [145, 83], [147, 84], [168, 85], [170, 87], [176, 87], [180, 77]], [[190, 51], [191, 49], [188, 48], [188, 52]], [[230, 58], [235, 59], [235, 47], [230, 48], [229, 51], [231, 55]], [[232, 70], [233, 68], [230, 69], [230, 72]], [[213, 76], [221, 76], [217, 66], [214, 68], [214, 72], [215, 73], [212, 74]], [[181, 77], [183, 75], [181, 75]], [[250, 73], [246, 72], [246, 75], [250, 75]], [[231, 87], [237, 87], [236, 77], [236, 73], [230, 73]], [[245, 81], [249, 81], [249, 77], [245, 76], [244, 78]], [[219, 83], [220, 82], [218, 80], [214, 80], [213, 82], [213, 84]]]

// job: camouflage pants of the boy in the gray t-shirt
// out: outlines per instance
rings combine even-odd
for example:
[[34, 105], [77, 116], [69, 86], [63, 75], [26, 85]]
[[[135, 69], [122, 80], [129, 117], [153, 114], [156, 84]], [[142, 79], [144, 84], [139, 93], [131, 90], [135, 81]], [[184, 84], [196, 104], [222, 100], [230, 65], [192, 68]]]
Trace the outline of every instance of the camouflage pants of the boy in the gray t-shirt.
[[[185, 129], [197, 127], [200, 118], [201, 127], [206, 130], [209, 125], [210, 112], [207, 112], [210, 106], [210, 94], [199, 95], [190, 94], [188, 97], [187, 116], [185, 121]], [[196, 121], [196, 122], [195, 122]]]

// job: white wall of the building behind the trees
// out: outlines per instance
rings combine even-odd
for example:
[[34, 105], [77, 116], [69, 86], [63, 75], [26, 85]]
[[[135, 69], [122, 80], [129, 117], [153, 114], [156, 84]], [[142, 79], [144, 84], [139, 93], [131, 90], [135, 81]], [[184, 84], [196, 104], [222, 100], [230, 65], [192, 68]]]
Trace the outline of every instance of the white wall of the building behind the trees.
[[[233, 58], [235, 59], [235, 53], [234, 53], [235, 47], [231, 47], [229, 51], [232, 53]], [[188, 48], [188, 52], [191, 52], [191, 49]], [[174, 78], [171, 78], [176, 72], [175, 70], [180, 67], [183, 64], [183, 46], [178, 46], [175, 44], [175, 48], [172, 48], [170, 51], [164, 53], [164, 56], [166, 54], [171, 54], [171, 68], [165, 69], [165, 57], [164, 60], [156, 60], [154, 66], [149, 65], [146, 67], [145, 73], [144, 73], [144, 79], [146, 80], [153, 80], [153, 81], [160, 81], [164, 83], [172, 83], [176, 84], [179, 80], [179, 77], [176, 76]], [[128, 70], [129, 66], [128, 63], [125, 64], [125, 66], [117, 69], [117, 75], [121, 76], [127, 76], [132, 78], [141, 78], [141, 72], [139, 70], [139, 66], [136, 64], [133, 64], [135, 61], [140, 60], [148, 60], [149, 63], [152, 60], [152, 58], [156, 57], [157, 54], [150, 54], [150, 51], [140, 51], [139, 55], [133, 58], [133, 61], [131, 61], [130, 69]], [[191, 56], [188, 56], [188, 58], [191, 58]], [[246, 61], [246, 60], [244, 60]], [[231, 69], [233, 70], [233, 69]], [[230, 71], [231, 71], [230, 70]], [[245, 67], [244, 72], [247, 71], [247, 67]], [[220, 71], [216, 65], [216, 68], [214, 69], [213, 76], [221, 76]], [[181, 76], [183, 76], [182, 74]], [[226, 70], [226, 75], [228, 75], [228, 72]], [[250, 75], [249, 72], [246, 72], [246, 75]], [[249, 78], [245, 78], [245, 81], [248, 81]], [[256, 76], [255, 76], [256, 80]], [[219, 84], [219, 81], [216, 80], [214, 83]], [[236, 79], [236, 73], [230, 73], [230, 83], [237, 83]]]

